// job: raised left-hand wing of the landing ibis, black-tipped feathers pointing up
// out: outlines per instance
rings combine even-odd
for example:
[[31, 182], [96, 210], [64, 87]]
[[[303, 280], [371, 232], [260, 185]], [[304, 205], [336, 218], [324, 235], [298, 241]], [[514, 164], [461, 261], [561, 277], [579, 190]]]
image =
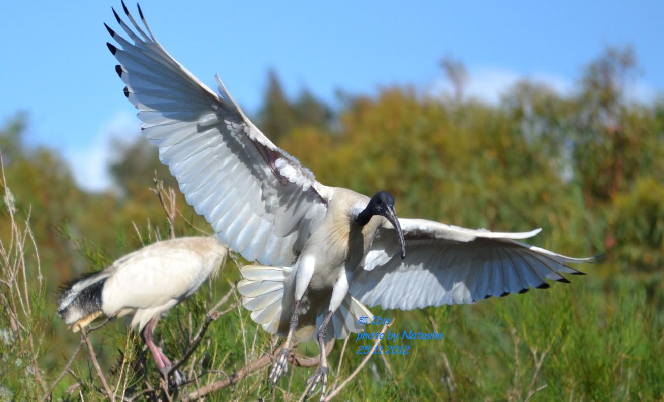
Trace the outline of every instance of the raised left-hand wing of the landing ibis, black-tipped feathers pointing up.
[[123, 7], [133, 29], [114, 13], [131, 42], [107, 26], [120, 45], [108, 47], [159, 159], [224, 243], [249, 261], [289, 265], [325, 215], [331, 190], [263, 135], [218, 77], [220, 95], [161, 47], [140, 9], [147, 33]]

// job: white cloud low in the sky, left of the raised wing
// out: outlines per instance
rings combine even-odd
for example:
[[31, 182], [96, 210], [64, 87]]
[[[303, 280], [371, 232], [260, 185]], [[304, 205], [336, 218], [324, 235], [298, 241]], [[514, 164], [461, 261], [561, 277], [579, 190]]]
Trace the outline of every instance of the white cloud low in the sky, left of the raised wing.
[[84, 190], [101, 192], [113, 186], [109, 165], [114, 157], [113, 139], [131, 141], [139, 135], [135, 115], [118, 112], [104, 122], [90, 143], [64, 151], [64, 158], [74, 173], [74, 179]]

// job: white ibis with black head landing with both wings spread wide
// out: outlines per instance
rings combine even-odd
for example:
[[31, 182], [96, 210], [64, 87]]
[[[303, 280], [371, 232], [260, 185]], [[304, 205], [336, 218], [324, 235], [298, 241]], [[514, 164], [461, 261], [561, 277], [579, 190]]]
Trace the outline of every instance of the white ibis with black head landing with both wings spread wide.
[[249, 121], [218, 76], [216, 94], [164, 50], [140, 7], [143, 27], [123, 8], [131, 27], [114, 14], [129, 40], [106, 26], [120, 46], [108, 48], [143, 133], [220, 239], [263, 265], [244, 268], [238, 289], [254, 321], [287, 336], [270, 373], [273, 386], [286, 371], [293, 336], [318, 326], [321, 364], [310, 380], [322, 383], [324, 397], [327, 327], [336, 337], [362, 330], [363, 304], [473, 302], [548, 287], [546, 279], [566, 281], [560, 273], [579, 273], [566, 264], [590, 261], [515, 240], [537, 231], [398, 219], [386, 192], [370, 199], [323, 186]]

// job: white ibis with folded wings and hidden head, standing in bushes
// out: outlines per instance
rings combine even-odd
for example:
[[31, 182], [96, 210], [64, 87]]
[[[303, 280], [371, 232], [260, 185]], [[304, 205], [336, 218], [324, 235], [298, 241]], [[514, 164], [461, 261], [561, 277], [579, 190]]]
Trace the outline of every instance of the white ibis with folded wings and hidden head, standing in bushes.
[[[110, 267], [62, 286], [58, 314], [74, 332], [98, 316], [133, 314], [131, 327], [143, 332], [157, 368], [168, 380], [173, 364], [155, 344], [157, 321], [175, 304], [191, 297], [226, 257], [214, 237], [163, 240], [129, 253]], [[183, 375], [175, 373], [175, 381]]]

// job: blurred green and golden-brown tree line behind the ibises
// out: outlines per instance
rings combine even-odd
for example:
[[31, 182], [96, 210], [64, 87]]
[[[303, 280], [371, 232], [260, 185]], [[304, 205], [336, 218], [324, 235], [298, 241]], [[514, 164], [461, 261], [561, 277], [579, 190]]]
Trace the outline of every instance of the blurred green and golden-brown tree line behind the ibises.
[[[463, 64], [446, 59], [442, 68], [452, 94], [395, 86], [377, 96], [344, 96], [336, 109], [307, 90], [288, 98], [269, 72], [254, 121], [324, 184], [392, 192], [404, 218], [503, 232], [542, 228], [533, 241], [543, 247], [577, 257], [606, 253], [601, 265], [582, 267], [594, 279], [579, 280], [610, 292], [614, 275], [633, 278], [645, 289], [649, 320], [661, 322], [664, 100], [629, 97], [638, 72], [631, 48], [608, 48], [570, 94], [523, 81], [495, 105], [465, 95]], [[25, 114], [7, 121], [0, 151], [18, 213], [30, 216], [50, 295], [90, 269], [80, 251], [119, 257], [140, 245], [134, 224], [141, 230], [150, 222], [165, 237], [149, 188], [155, 170], [166, 186], [177, 183], [147, 141], [114, 145], [116, 188], [90, 194], [58, 153], [25, 146], [27, 124]], [[185, 218], [211, 232], [178, 196]], [[94, 247], [80, 250], [80, 239]], [[47, 301], [53, 314], [54, 297]]]

